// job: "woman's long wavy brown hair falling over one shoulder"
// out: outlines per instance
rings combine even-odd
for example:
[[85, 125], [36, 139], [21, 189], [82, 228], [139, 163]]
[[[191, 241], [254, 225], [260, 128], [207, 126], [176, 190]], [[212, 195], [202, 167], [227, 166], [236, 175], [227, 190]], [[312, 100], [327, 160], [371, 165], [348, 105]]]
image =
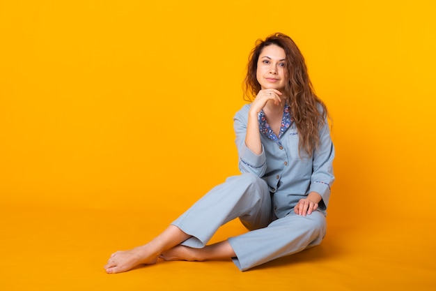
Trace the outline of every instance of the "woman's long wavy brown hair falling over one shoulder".
[[[294, 41], [283, 33], [274, 33], [265, 40], [256, 40], [256, 46], [249, 55], [247, 76], [244, 82], [244, 99], [253, 101], [260, 91], [256, 78], [258, 59], [267, 45], [277, 45], [286, 54], [286, 70], [288, 82], [283, 90], [286, 101], [290, 105], [293, 121], [299, 133], [299, 150], [304, 149], [309, 156], [320, 144], [319, 128], [325, 124], [328, 116], [325, 103], [316, 96], [307, 73], [306, 62]], [[318, 110], [321, 106], [322, 110]]]

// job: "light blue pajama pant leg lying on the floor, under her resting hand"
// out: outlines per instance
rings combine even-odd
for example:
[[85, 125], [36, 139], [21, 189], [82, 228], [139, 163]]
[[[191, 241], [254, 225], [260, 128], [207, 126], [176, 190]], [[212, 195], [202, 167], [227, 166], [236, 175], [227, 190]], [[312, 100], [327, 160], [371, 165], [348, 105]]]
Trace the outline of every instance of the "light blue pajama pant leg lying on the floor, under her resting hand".
[[245, 271], [270, 260], [303, 251], [320, 244], [326, 228], [325, 215], [321, 211], [313, 211], [308, 216], [299, 216], [292, 211], [265, 228], [228, 239], [236, 253], [233, 262], [241, 271]]

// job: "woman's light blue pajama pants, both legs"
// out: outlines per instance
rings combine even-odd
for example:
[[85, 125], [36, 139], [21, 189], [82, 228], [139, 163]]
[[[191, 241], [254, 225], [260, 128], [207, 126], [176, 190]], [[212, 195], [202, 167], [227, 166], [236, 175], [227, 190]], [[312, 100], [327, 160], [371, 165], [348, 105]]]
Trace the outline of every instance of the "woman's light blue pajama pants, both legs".
[[171, 224], [192, 236], [182, 245], [203, 248], [221, 225], [235, 218], [249, 230], [228, 239], [241, 271], [320, 244], [327, 226], [318, 210], [299, 216], [290, 209], [277, 218], [266, 182], [254, 174], [229, 177]]

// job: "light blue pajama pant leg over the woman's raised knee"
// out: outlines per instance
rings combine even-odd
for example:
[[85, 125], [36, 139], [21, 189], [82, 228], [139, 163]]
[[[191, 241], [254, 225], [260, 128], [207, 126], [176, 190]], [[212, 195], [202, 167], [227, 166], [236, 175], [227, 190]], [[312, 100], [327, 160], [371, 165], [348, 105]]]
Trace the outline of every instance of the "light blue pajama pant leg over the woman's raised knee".
[[250, 227], [265, 227], [272, 221], [271, 196], [263, 179], [254, 174], [229, 177], [192, 205], [173, 225], [192, 235], [184, 246], [203, 248], [221, 225], [243, 217]]

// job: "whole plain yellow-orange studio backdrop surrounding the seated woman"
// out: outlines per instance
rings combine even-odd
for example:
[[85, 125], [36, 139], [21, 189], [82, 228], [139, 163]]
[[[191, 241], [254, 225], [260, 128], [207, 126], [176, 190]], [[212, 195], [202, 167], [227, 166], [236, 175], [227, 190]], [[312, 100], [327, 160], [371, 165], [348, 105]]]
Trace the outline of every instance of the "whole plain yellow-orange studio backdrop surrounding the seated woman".
[[[306, 252], [315, 266], [302, 253], [256, 276], [230, 262], [214, 272], [259, 288], [258, 276], [277, 286], [321, 276], [320, 287], [337, 276], [335, 290], [434, 286], [435, 13], [432, 0], [0, 1], [0, 288], [149, 280], [101, 266], [238, 174], [232, 117], [247, 57], [275, 31], [299, 45], [332, 117], [329, 234]], [[158, 265], [153, 276], [168, 276]]]

